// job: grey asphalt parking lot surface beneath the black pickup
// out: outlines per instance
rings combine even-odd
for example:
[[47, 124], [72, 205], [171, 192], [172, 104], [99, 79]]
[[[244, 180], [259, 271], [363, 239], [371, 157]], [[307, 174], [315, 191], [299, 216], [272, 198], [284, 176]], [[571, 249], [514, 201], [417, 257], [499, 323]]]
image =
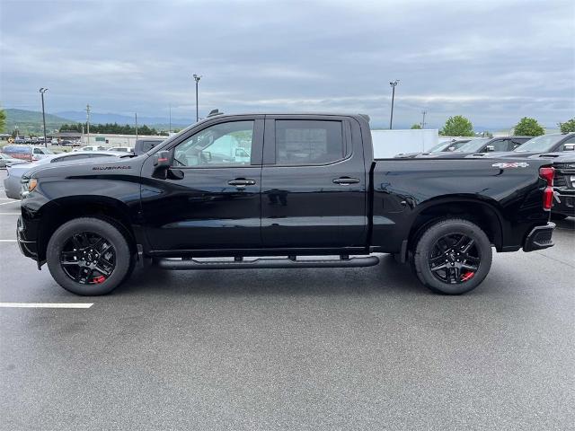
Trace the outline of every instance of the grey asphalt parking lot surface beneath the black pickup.
[[79, 297], [22, 257], [18, 210], [0, 199], [0, 303], [92, 305], [0, 308], [1, 429], [573, 429], [573, 219], [457, 297], [390, 256]]

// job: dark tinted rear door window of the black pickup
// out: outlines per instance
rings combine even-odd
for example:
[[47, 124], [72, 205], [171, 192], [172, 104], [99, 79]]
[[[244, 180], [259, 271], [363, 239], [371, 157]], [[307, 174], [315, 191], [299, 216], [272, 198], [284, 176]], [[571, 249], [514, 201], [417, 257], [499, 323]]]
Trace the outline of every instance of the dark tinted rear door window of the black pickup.
[[344, 156], [341, 121], [276, 120], [277, 164], [323, 164]]

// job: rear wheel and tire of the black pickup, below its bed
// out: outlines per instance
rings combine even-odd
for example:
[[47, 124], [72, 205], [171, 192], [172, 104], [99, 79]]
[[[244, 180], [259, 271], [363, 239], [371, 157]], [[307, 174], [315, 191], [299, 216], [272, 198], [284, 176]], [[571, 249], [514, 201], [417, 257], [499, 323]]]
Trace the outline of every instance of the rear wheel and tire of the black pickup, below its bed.
[[491, 242], [479, 226], [450, 218], [431, 224], [421, 234], [413, 267], [420, 282], [432, 291], [461, 295], [482, 283], [492, 258]]

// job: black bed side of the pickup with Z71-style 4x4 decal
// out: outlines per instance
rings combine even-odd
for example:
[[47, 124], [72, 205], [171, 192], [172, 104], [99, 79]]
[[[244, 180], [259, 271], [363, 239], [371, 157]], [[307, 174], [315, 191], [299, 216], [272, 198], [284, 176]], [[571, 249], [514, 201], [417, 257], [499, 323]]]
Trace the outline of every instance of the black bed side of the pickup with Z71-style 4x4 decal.
[[[505, 163], [515, 161], [505, 159]], [[526, 163], [525, 159], [517, 160]], [[549, 162], [500, 168], [497, 159], [385, 159], [374, 173], [372, 244], [396, 252], [410, 235], [420, 213], [432, 206], [456, 202], [489, 206], [500, 223], [498, 250], [521, 246], [535, 225], [546, 224], [542, 208], [545, 181], [539, 168]], [[446, 214], [445, 216], [450, 216]]]

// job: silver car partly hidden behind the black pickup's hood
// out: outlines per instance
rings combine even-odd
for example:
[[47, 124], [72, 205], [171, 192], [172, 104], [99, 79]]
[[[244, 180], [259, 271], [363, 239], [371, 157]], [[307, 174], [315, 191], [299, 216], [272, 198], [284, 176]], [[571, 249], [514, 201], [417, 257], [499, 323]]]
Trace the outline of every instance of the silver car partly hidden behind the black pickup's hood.
[[10, 166], [6, 168], [7, 177], [4, 179], [4, 191], [6, 197], [11, 199], [20, 199], [22, 191], [22, 175], [31, 169], [49, 165], [49, 163], [64, 163], [64, 162], [74, 162], [84, 159], [95, 159], [98, 157], [119, 157], [126, 156], [126, 153], [111, 153], [110, 151], [90, 151], [83, 153], [62, 153], [62, 154], [51, 154], [42, 160], [35, 163], [26, 163]]

